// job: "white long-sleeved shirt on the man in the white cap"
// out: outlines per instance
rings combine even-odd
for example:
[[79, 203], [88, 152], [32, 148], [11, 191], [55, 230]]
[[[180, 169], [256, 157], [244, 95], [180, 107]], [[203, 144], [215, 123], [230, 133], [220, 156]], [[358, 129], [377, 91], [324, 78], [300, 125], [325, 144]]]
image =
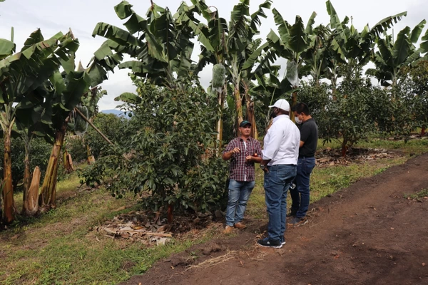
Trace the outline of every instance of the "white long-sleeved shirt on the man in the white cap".
[[263, 142], [263, 160], [270, 160], [267, 165], [297, 165], [300, 131], [288, 115], [273, 118]]

